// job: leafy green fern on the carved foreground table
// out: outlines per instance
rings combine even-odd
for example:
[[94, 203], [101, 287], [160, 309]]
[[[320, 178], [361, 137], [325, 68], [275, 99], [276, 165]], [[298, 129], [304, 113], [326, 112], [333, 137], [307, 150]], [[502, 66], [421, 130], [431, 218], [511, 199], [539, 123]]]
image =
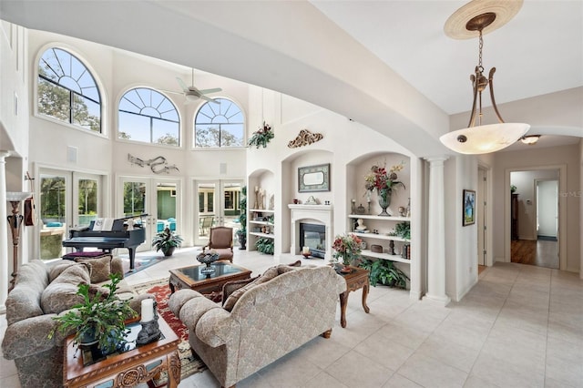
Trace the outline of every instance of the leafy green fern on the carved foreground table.
[[79, 284], [77, 294], [83, 297], [83, 302], [53, 318], [57, 325], [48, 333], [48, 338], [53, 338], [56, 331], [66, 334], [77, 330], [75, 344], [93, 338], [93, 341], [98, 341], [100, 350], [115, 352], [127, 334], [126, 320], [137, 317], [138, 313], [129, 307], [129, 299], [121, 301], [116, 295], [121, 277], [112, 273], [109, 279], [111, 282], [104, 285], [108, 289], [107, 295], [97, 291], [91, 296], [89, 284]]

